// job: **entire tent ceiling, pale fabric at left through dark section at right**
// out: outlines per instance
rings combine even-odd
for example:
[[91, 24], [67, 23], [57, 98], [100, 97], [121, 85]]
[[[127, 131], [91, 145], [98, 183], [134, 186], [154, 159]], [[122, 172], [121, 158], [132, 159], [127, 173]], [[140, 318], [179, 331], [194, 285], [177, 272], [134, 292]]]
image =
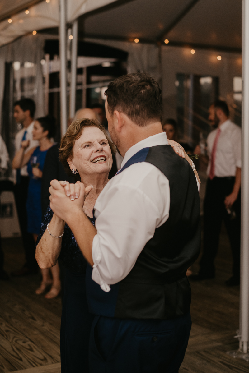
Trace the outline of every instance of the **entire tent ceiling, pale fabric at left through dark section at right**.
[[[32, 5], [36, 3], [35, 5]], [[67, 0], [68, 22], [79, 19], [82, 37], [241, 50], [239, 0]], [[29, 14], [24, 10], [28, 5]], [[32, 6], [31, 6], [32, 5]], [[17, 10], [22, 9], [16, 14]], [[8, 13], [9, 12], [9, 13]], [[59, 0], [1, 0], [0, 46], [34, 30], [59, 25]]]

